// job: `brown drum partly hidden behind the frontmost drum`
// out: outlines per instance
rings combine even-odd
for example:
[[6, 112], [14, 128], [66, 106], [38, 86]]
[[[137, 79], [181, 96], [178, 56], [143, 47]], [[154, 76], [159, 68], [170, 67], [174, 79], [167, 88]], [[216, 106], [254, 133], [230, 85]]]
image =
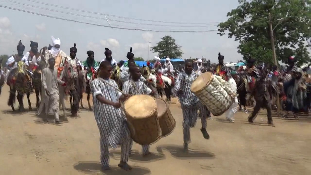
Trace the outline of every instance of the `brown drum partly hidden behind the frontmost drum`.
[[168, 136], [175, 128], [176, 121], [173, 118], [169, 105], [161, 98], [156, 98], [157, 113], [159, 117], [162, 137]]

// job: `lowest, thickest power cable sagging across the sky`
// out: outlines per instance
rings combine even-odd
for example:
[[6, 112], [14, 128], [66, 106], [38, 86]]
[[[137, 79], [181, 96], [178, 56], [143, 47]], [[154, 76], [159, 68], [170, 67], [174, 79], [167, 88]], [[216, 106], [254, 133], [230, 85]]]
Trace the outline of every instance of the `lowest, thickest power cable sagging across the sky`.
[[[198, 33], [198, 32], [218, 31], [217, 29], [216, 30], [202, 30], [202, 31], [164, 31], [164, 30], [161, 31], [161, 30], [147, 30], [147, 29], [133, 29], [133, 28], [125, 28], [125, 27], [113, 27], [113, 26], [106, 26], [106, 25], [94, 24], [94, 23], [89, 23], [89, 22], [82, 22], [82, 21], [77, 21], [77, 20], [65, 19], [65, 18], [60, 18], [60, 17], [53, 17], [53, 16], [49, 16], [49, 15], [45, 15], [45, 14], [40, 14], [40, 13], [36, 13], [36, 12], [30, 12], [30, 11], [26, 11], [26, 10], [14, 8], [14, 7], [3, 6], [3, 5], [0, 5], [0, 7], [11, 9], [11, 10], [16, 10], [16, 11], [20, 11], [20, 12], [26, 12], [26, 13], [30, 13], [30, 14], [35, 14], [35, 15], [39, 15], [39, 16], [44, 16], [44, 17], [64, 20], [64, 21], [72, 21], [72, 22], [88, 24], [88, 25], [92, 25], [92, 26], [109, 27], [109, 28], [123, 29], [123, 30], [154, 31], [154, 32], [175, 32], [175, 33]], [[251, 21], [251, 22], [248, 22], [248, 23], [253, 23], [253, 22], [257, 22], [257, 21]], [[233, 25], [233, 26], [237, 26], [237, 25]], [[227, 26], [227, 27], [230, 27], [230, 26]]]

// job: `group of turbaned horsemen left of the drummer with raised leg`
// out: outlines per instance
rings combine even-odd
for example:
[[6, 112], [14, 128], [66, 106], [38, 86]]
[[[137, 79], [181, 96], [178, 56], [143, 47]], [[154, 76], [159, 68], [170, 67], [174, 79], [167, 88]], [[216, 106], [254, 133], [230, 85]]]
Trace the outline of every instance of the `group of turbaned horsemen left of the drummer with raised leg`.
[[[87, 59], [84, 64], [81, 63], [76, 57], [77, 48], [76, 44], [70, 48], [70, 55], [67, 55], [63, 50], [60, 49], [61, 42], [55, 39], [53, 36], [53, 45], [49, 47], [43, 47], [38, 50], [38, 43], [30, 41], [30, 50], [24, 55], [25, 46], [21, 40], [17, 45], [17, 53], [8, 58], [6, 62], [7, 73], [7, 85], [10, 87], [10, 97], [8, 105], [14, 110], [15, 95], [17, 91], [17, 100], [19, 102], [19, 110], [23, 111], [23, 95], [27, 94], [29, 108], [31, 109], [29, 95], [35, 90], [37, 96], [36, 106], [39, 107], [40, 100], [39, 95], [42, 92], [41, 84], [41, 73], [44, 68], [49, 67], [49, 58], [55, 59], [54, 68], [58, 70], [58, 80], [62, 82], [59, 86], [60, 99], [64, 99], [66, 95], [73, 97], [72, 116], [77, 116], [79, 110], [79, 101], [82, 98], [82, 93], [88, 93], [88, 101], [90, 97], [90, 82], [97, 77], [99, 71], [99, 63], [94, 60], [94, 52], [87, 51]], [[136, 65], [134, 61], [134, 54], [132, 54], [132, 48], [127, 54], [128, 61], [123, 65], [118, 64], [112, 59], [112, 52], [108, 48], [105, 48], [104, 52], [106, 58], [103, 59], [109, 61], [113, 66], [113, 73], [111, 74], [119, 87], [122, 87], [122, 83], [127, 81], [130, 77], [129, 68], [131, 65]], [[165, 65], [168, 67], [166, 70], [165, 77], [163, 75], [162, 65], [160, 58], [156, 58], [156, 63], [153, 67], [148, 63], [142, 68], [141, 79], [144, 82], [148, 82], [149, 85], [157, 88], [162, 95], [162, 89], [168, 89], [174, 83], [174, 69], [172, 64], [167, 58]], [[101, 62], [102, 62], [101, 61]], [[169, 64], [168, 64], [169, 63]], [[152, 69], [152, 70], [151, 70]], [[165, 91], [166, 92], [166, 91]], [[170, 95], [167, 95], [167, 100], [170, 100]], [[63, 103], [60, 103], [63, 105]], [[82, 103], [81, 103], [82, 106]], [[89, 107], [90, 103], [89, 103]], [[64, 105], [63, 105], [64, 108]]]

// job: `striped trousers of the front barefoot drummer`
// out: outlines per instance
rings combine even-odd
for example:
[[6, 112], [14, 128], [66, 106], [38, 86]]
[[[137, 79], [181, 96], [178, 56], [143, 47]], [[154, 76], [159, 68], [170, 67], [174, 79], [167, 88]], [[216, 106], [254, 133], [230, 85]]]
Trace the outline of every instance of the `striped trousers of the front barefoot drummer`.
[[[122, 138], [120, 140], [121, 145], [121, 162], [128, 162], [128, 154], [131, 148], [132, 138], [128, 127], [124, 126]], [[100, 136], [100, 162], [103, 166], [109, 166], [109, 141], [102, 135]]]

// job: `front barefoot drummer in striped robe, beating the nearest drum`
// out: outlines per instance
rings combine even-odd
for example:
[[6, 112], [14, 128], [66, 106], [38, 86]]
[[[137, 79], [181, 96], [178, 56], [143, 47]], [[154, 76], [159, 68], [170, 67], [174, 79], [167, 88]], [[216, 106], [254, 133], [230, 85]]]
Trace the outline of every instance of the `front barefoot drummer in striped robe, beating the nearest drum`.
[[118, 166], [128, 171], [132, 169], [127, 163], [132, 139], [119, 102], [125, 101], [127, 96], [116, 91], [117, 83], [109, 79], [111, 71], [112, 66], [108, 61], [101, 62], [99, 78], [91, 82], [94, 116], [100, 131], [100, 161], [102, 169], [109, 170], [109, 146], [115, 149], [117, 145], [121, 145]]

